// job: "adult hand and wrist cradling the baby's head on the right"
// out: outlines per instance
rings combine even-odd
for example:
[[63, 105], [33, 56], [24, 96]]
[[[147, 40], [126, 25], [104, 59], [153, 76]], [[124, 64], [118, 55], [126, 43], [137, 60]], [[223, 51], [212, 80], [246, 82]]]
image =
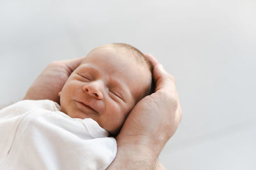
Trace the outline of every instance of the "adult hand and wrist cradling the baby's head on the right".
[[154, 169], [157, 157], [182, 118], [175, 80], [152, 55], [156, 90], [136, 104], [116, 137], [116, 159], [108, 169]]

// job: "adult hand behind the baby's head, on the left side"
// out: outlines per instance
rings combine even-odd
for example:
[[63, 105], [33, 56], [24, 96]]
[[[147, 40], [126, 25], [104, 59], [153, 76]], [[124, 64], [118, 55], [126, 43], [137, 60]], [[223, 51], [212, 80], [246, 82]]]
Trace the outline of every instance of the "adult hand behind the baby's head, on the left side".
[[49, 99], [60, 103], [58, 92], [61, 91], [68, 76], [82, 62], [84, 57], [70, 60], [51, 62], [44, 71], [36, 78], [28, 89], [24, 99]]

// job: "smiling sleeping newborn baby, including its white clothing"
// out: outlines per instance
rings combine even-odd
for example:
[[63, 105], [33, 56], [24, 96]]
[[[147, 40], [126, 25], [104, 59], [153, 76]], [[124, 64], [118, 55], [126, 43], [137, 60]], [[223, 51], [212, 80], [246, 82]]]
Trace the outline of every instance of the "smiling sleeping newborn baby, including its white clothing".
[[49, 100], [20, 101], [0, 111], [0, 169], [106, 169], [115, 136], [152, 90], [152, 65], [123, 43], [90, 52]]

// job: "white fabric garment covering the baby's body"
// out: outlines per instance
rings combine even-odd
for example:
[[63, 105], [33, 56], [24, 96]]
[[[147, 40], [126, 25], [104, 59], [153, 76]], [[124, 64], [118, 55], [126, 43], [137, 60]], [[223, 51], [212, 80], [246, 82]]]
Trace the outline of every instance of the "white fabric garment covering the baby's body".
[[49, 100], [20, 101], [0, 110], [0, 169], [106, 169], [116, 155], [91, 118], [70, 118]]

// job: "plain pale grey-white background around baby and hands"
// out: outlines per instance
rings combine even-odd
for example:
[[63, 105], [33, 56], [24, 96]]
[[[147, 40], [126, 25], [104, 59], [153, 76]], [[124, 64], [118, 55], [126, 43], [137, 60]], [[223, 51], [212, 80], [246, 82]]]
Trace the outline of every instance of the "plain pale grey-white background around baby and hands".
[[52, 60], [112, 42], [152, 53], [184, 118], [166, 169], [256, 169], [256, 1], [0, 1], [0, 105]]

